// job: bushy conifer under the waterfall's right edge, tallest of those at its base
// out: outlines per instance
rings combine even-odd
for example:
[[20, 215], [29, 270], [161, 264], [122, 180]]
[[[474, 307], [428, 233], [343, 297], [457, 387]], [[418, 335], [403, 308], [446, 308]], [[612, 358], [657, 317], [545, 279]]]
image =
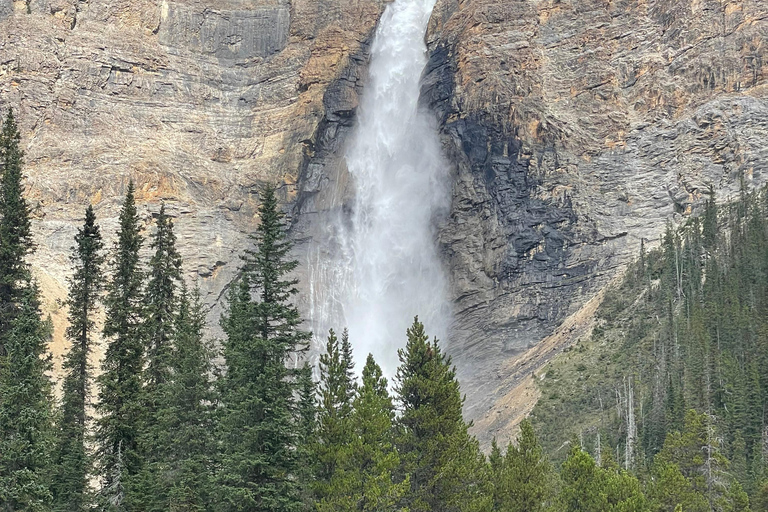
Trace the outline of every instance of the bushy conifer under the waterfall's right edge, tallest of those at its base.
[[416, 318], [398, 351], [395, 390], [401, 417], [401, 473], [410, 476], [404, 505], [411, 512], [489, 510], [485, 458], [468, 433], [464, 402], [450, 357], [430, 343]]

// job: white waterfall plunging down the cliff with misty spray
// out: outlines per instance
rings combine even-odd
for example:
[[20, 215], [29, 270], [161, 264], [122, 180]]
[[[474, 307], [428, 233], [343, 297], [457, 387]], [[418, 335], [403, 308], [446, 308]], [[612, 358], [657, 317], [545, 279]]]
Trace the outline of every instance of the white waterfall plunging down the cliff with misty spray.
[[434, 232], [449, 201], [447, 165], [433, 116], [418, 106], [434, 3], [396, 0], [382, 15], [346, 152], [352, 211], [328, 227], [332, 261], [316, 253], [310, 268], [315, 333], [347, 326], [358, 370], [370, 352], [390, 376], [415, 315], [441, 339], [450, 323]]

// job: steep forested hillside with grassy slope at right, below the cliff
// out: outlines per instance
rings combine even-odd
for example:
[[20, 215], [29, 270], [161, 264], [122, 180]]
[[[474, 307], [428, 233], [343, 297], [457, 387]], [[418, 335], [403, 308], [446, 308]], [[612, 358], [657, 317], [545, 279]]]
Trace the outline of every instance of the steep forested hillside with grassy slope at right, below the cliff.
[[700, 215], [641, 251], [591, 338], [539, 374], [533, 421], [554, 460], [577, 442], [689, 486], [684, 510], [709, 510], [734, 487], [764, 510], [768, 192], [742, 190], [720, 207], [710, 192]]

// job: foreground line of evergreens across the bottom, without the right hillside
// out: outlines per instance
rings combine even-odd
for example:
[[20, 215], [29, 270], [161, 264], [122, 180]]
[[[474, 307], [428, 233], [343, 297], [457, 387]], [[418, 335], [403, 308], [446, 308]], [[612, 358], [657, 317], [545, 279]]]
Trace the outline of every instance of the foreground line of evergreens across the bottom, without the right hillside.
[[[684, 413], [688, 402], [675, 405], [678, 430], [670, 426], [655, 454], [666, 465], [646, 478], [622, 468], [609, 443], [590, 454], [577, 439], [555, 468], [528, 421], [515, 444], [502, 450], [494, 441], [486, 457], [462, 415], [451, 359], [418, 318], [391, 385], [370, 355], [357, 377], [345, 330], [328, 333], [313, 371], [303, 362], [310, 333], [293, 302], [297, 262], [270, 186], [229, 287], [219, 343], [204, 336], [203, 304], [182, 277], [165, 208], [146, 239], [131, 183], [107, 250], [88, 206], [72, 249], [70, 348], [55, 398], [51, 325], [27, 263], [34, 244], [19, 144], [9, 112], [0, 131], [0, 510], [713, 510], [702, 486], [715, 480], [702, 476], [700, 450], [702, 438], [711, 444], [710, 416]], [[99, 336], [106, 351], [97, 371]], [[651, 446], [648, 435], [640, 429], [638, 446]], [[752, 462], [750, 435], [742, 437]], [[708, 454], [710, 467], [718, 457]], [[748, 510], [737, 486], [726, 498], [717, 510]], [[702, 503], [709, 508], [695, 508]]]

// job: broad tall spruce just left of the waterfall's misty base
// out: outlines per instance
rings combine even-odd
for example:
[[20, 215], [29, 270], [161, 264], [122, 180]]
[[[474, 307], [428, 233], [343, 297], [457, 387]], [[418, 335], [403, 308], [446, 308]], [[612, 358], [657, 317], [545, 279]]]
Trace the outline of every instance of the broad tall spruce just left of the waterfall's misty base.
[[303, 350], [309, 333], [291, 302], [297, 281], [290, 273], [283, 213], [273, 186], [262, 191], [255, 249], [244, 257], [243, 277], [230, 294], [222, 319], [226, 373], [221, 379], [223, 447], [221, 510], [298, 511], [303, 507], [296, 475], [300, 421], [299, 371], [286, 363]]

